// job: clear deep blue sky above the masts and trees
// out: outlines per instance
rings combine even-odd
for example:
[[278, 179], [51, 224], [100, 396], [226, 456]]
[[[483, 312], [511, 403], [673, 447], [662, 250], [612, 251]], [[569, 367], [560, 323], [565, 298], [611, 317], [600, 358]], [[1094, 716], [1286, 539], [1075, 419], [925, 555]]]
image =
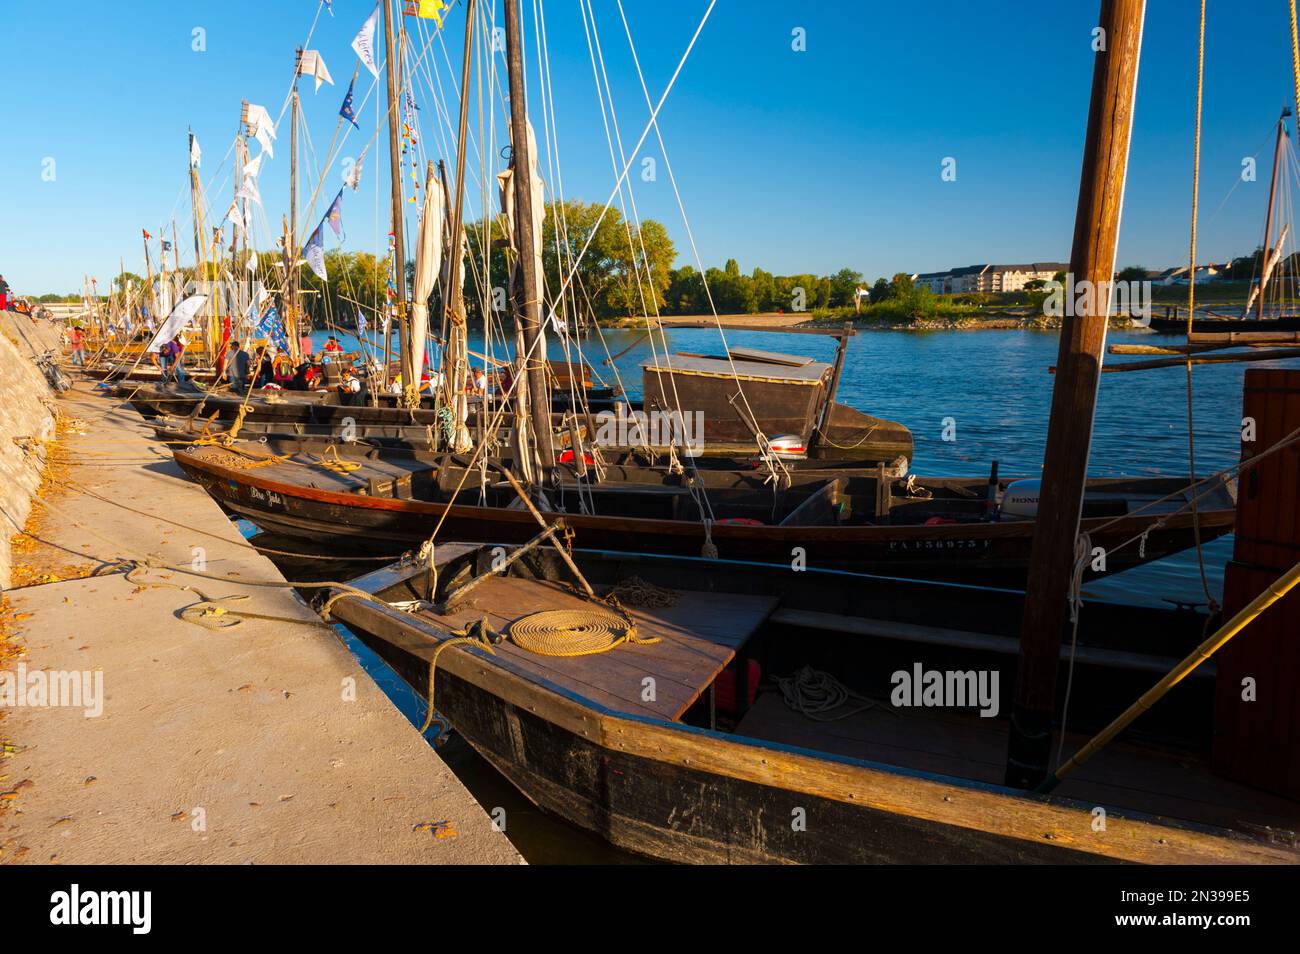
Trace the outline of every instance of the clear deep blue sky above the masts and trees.
[[[708, 3], [623, 3], [658, 99]], [[616, 4], [592, 5], [630, 149], [647, 109]], [[320, 16], [311, 45], [335, 84], [318, 94], [309, 81], [302, 84], [317, 157], [356, 64], [348, 44], [373, 0], [334, 0], [333, 8], [333, 17]], [[499, 8], [498, 0], [498, 17]], [[1097, 8], [1096, 0], [719, 0], [660, 113], [703, 263], [734, 257], [746, 272], [760, 265], [781, 274], [850, 266], [870, 279], [1069, 257]], [[536, 0], [524, 0], [524, 9], [540, 127]], [[564, 191], [603, 203], [614, 174], [580, 4], [546, 0], [543, 10]], [[0, 0], [9, 66], [0, 92], [0, 273], [20, 291], [44, 292], [74, 291], [83, 273], [104, 282], [120, 256], [142, 272], [140, 229], [170, 229], [173, 216], [188, 250], [187, 127], [203, 147], [202, 173], [220, 216], [233, 191], [229, 162], [220, 166], [239, 103], [247, 97], [280, 113], [292, 51], [316, 13], [317, 0]], [[445, 83], [459, 65], [463, 25], [462, 0], [447, 19], [448, 58], [434, 40], [426, 60], [438, 64]], [[204, 31], [200, 52], [192, 49], [196, 27]], [[806, 35], [803, 52], [792, 49], [796, 27]], [[1214, 260], [1253, 248], [1262, 233], [1271, 126], [1292, 96], [1286, 4], [1210, 0], [1206, 43], [1199, 257]], [[1196, 4], [1150, 0], [1122, 265], [1186, 260], [1195, 56]], [[358, 103], [368, 81], [363, 69]], [[442, 138], [430, 118], [437, 104], [424, 91], [420, 103], [425, 147], [438, 159]], [[339, 157], [355, 157], [373, 136], [374, 110], [372, 97]], [[347, 248], [382, 251], [385, 143], [380, 136], [367, 153], [360, 191], [344, 196]], [[1243, 157], [1256, 155], [1258, 179], [1239, 182]], [[653, 134], [637, 156], [641, 214], [664, 222], [679, 261], [693, 261]], [[641, 181], [645, 156], [659, 161], [654, 182]], [[956, 182], [940, 178], [949, 156]], [[47, 159], [55, 160], [53, 181], [43, 178]], [[446, 159], [450, 165], [454, 156]], [[313, 218], [339, 187], [339, 164], [324, 174], [328, 195]], [[287, 209], [287, 179], [286, 120], [261, 175], [263, 221], [278, 224]], [[303, 188], [315, 182], [313, 174]], [[269, 247], [268, 229], [259, 233], [259, 244]]]

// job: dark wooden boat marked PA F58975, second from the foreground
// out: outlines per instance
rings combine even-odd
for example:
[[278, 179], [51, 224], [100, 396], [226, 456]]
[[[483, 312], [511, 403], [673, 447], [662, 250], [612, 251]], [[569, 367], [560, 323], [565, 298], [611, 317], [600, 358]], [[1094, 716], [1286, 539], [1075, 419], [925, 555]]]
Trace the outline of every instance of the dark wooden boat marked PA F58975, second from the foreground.
[[[471, 542], [521, 543], [536, 533], [498, 464], [467, 473], [468, 461], [451, 455], [274, 438], [173, 452], [228, 511], [281, 535], [330, 541], [339, 552], [395, 552], [419, 546], [436, 526], [441, 539]], [[988, 519], [996, 511], [984, 478], [794, 469], [777, 490], [754, 469], [703, 469], [696, 486], [670, 468], [610, 467], [599, 482], [581, 482], [572, 465], [558, 469], [545, 509], [563, 516], [585, 548], [698, 555], [711, 542], [723, 559], [1020, 585], [1034, 537], [1034, 520]], [[998, 494], [1009, 483], [998, 481]], [[1106, 559], [1088, 574], [1193, 546], [1184, 495], [1135, 512], [1183, 483], [1089, 481], [1082, 529]], [[1210, 489], [1199, 508], [1202, 539], [1231, 532], [1230, 485]]]

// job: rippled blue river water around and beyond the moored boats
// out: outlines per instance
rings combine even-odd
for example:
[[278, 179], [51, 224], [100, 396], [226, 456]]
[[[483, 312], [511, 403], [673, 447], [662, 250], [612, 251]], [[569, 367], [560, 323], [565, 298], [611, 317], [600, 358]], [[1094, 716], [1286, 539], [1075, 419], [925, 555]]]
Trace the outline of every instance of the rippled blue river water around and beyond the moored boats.
[[[614, 370], [602, 365], [602, 359], [628, 348], [614, 368], [629, 395], [638, 396], [641, 364], [651, 357], [650, 343], [640, 341], [634, 330], [606, 329], [603, 335], [607, 351], [599, 344], [589, 347], [597, 373], [612, 383]], [[324, 343], [324, 334], [316, 337], [318, 344]], [[339, 337], [344, 346], [355, 346], [347, 335]], [[1173, 341], [1145, 333], [1112, 333], [1109, 337], [1110, 343]], [[745, 331], [731, 333], [728, 343], [798, 352], [823, 361], [835, 355], [835, 339], [822, 335]], [[699, 329], [670, 330], [668, 346], [672, 351], [696, 354], [720, 354], [722, 347], [716, 330]], [[473, 335], [471, 347], [480, 347]], [[554, 343], [551, 356], [563, 356]], [[910, 428], [915, 439], [914, 473], [985, 476], [989, 463], [997, 460], [1004, 477], [1034, 477], [1043, 465], [1053, 382], [1048, 368], [1056, 363], [1056, 356], [1054, 331], [864, 331], [849, 346], [838, 399]], [[1108, 356], [1113, 364], [1126, 360], [1134, 359]], [[1251, 367], [1271, 365], [1254, 363]], [[1197, 472], [1201, 474], [1227, 467], [1238, 458], [1244, 369], [1245, 365], [1227, 364], [1197, 365], [1192, 370]], [[952, 426], [946, 430], [956, 439], [944, 439], [949, 424], [956, 434]], [[1080, 434], [1079, 439], [1087, 437]], [[1187, 386], [1182, 367], [1102, 376], [1089, 473], [1095, 477], [1188, 473]], [[1204, 550], [1216, 598], [1222, 591], [1223, 564], [1231, 548], [1231, 537], [1225, 537]], [[368, 568], [358, 567], [356, 572]], [[1161, 604], [1166, 598], [1204, 602], [1195, 552], [1092, 582], [1084, 591], [1086, 598], [1089, 594], [1144, 604]], [[359, 639], [342, 626], [338, 629], [394, 704], [419, 725], [424, 719], [424, 701]], [[430, 729], [430, 741], [434, 734]], [[506, 808], [507, 834], [530, 862], [637, 860], [542, 815], [454, 733], [439, 753], [485, 808]]]

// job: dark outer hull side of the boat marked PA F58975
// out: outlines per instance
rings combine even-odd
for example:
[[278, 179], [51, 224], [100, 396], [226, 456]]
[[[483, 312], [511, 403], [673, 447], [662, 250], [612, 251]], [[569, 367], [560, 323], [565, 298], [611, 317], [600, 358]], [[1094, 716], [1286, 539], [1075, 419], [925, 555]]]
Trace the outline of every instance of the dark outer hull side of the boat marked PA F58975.
[[[523, 509], [430, 503], [338, 493], [291, 483], [259, 474], [257, 469], [222, 465], [214, 454], [177, 450], [185, 472], [228, 511], [248, 519], [263, 530], [285, 537], [328, 541], [338, 552], [391, 554], [419, 546], [438, 529], [438, 538], [484, 543], [523, 543], [537, 533], [533, 517]], [[644, 517], [563, 516], [575, 534], [575, 546], [590, 550], [637, 550], [651, 554], [698, 556], [705, 546], [705, 528], [692, 520]], [[1195, 545], [1188, 515], [1156, 517], [1092, 517], [1082, 529], [1093, 546], [1114, 551], [1105, 573], [1160, 559]], [[1231, 532], [1231, 509], [1201, 513], [1201, 538]], [[1121, 547], [1149, 530], [1144, 552]], [[772, 526], [715, 524], [712, 543], [722, 559], [906, 576], [924, 580], [954, 580], [1018, 586], [1027, 576], [1034, 538], [1031, 521], [968, 522], [945, 525]], [[1102, 576], [1104, 573], [1089, 573]]]

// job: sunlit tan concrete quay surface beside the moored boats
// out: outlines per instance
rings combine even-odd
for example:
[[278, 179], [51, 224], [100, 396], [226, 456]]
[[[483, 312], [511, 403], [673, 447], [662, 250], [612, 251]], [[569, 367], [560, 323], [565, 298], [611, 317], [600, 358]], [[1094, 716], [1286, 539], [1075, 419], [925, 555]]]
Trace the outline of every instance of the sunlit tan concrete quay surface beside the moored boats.
[[[520, 863], [333, 629], [242, 582], [283, 577], [129, 406], [86, 383], [58, 404], [74, 420], [30, 525], [43, 542], [16, 558], [36, 584], [6, 594], [26, 654], [4, 668], [101, 677], [103, 712], [3, 710], [0, 863]], [[127, 580], [142, 556], [229, 581]], [[276, 619], [195, 625], [195, 590]]]

